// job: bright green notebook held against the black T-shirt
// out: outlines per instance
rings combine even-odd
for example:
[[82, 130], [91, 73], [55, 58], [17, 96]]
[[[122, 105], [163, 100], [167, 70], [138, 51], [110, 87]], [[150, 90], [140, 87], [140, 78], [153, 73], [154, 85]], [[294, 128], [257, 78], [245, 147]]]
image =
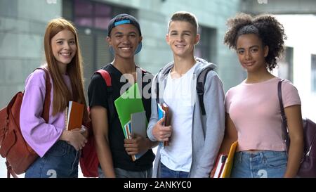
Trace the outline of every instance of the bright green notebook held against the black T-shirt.
[[131, 114], [144, 111], [143, 101], [140, 96], [138, 84], [133, 84], [124, 94], [114, 101], [119, 121], [124, 132], [125, 138], [128, 138], [127, 128], [131, 124]]

